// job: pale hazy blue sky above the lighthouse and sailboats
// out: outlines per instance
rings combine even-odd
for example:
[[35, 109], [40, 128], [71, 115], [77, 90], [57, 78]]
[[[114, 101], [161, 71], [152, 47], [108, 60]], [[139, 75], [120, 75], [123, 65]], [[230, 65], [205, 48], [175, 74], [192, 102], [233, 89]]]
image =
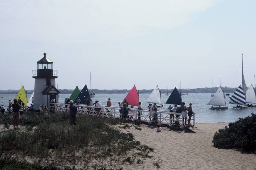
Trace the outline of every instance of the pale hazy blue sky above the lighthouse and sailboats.
[[43, 53], [59, 89], [241, 84], [256, 74], [254, 0], [0, 0], [0, 89], [34, 89]]

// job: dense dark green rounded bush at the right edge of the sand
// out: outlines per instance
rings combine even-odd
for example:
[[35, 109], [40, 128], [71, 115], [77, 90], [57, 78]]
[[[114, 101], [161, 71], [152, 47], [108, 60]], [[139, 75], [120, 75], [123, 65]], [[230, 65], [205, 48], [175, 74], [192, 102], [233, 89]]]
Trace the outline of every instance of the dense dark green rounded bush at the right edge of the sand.
[[212, 142], [214, 147], [222, 149], [256, 152], [256, 114], [229, 123], [229, 127], [215, 133]]

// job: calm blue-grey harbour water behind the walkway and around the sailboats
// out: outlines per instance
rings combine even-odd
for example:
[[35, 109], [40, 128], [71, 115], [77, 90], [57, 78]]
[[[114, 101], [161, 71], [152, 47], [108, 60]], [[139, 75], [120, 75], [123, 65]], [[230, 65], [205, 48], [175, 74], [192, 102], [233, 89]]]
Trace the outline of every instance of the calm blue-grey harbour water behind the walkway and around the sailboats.
[[[98, 100], [101, 106], [106, 106], [108, 98], [111, 98], [112, 105], [118, 106], [118, 102], [122, 102], [123, 98], [125, 98], [126, 94], [96, 94], [93, 101]], [[145, 103], [146, 98], [148, 98], [149, 94], [140, 94], [140, 101], [142, 102], [142, 106], [146, 108], [148, 103]], [[7, 106], [8, 101], [12, 100], [15, 95], [0, 95], [0, 104], [4, 104]], [[30, 95], [28, 95], [28, 98]], [[59, 98], [59, 102], [64, 103], [65, 98], [70, 97], [70, 94], [61, 94]], [[162, 103], [165, 103], [167, 98], [163, 94], [162, 96]], [[227, 104], [229, 109], [227, 110], [211, 110], [209, 109], [207, 103], [211, 99], [211, 94], [189, 94], [189, 95], [182, 95], [182, 100], [186, 103], [186, 106], [189, 103], [192, 103], [193, 111], [196, 113], [195, 120], [196, 122], [233, 122], [236, 121], [238, 118], [244, 118], [248, 115], [251, 115], [252, 112], [256, 112], [256, 107], [248, 108], [248, 109], [231, 109], [234, 105]], [[227, 103], [229, 102], [229, 98], [226, 97]], [[169, 105], [164, 104], [163, 108], [160, 110], [168, 111]]]

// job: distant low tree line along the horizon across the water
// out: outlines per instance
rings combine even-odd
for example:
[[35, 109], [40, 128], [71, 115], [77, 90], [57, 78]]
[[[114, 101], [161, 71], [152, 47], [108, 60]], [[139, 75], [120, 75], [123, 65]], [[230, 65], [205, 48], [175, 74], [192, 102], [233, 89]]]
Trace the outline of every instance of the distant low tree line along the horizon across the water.
[[[216, 92], [219, 87], [204, 87], [204, 88], [195, 88], [195, 89], [180, 89], [181, 93], [212, 93]], [[222, 87], [224, 92], [227, 92], [227, 87]], [[62, 94], [72, 94], [73, 89], [58, 89]], [[80, 89], [81, 90], [81, 89]], [[145, 93], [151, 93], [153, 89], [141, 89], [138, 90], [139, 93], [145, 94]], [[173, 89], [168, 89], [168, 93], [171, 93]], [[229, 87], [228, 92], [233, 93], [236, 90], [236, 88]], [[17, 94], [19, 90], [0, 90], [0, 94]], [[92, 89], [93, 92], [96, 94], [123, 94], [126, 93], [126, 91], [129, 92], [127, 89]], [[160, 89], [162, 94], [167, 93], [167, 89]], [[26, 90], [27, 94], [32, 94], [33, 90]]]

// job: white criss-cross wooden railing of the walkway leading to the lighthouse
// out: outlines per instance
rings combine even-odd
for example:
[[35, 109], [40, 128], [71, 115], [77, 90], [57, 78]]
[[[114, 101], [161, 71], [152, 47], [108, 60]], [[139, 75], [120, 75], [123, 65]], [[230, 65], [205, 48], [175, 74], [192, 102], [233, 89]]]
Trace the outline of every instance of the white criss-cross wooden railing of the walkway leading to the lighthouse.
[[[50, 110], [55, 112], [69, 112], [69, 104], [63, 103], [50, 103]], [[74, 104], [77, 107], [78, 113], [86, 114], [86, 115], [94, 115], [100, 117], [107, 117], [107, 118], [121, 118], [121, 114], [119, 112], [119, 107], [94, 107], [94, 106], [87, 106], [84, 104]], [[171, 118], [171, 112], [166, 111], [157, 111], [157, 118], [159, 124], [167, 124], [172, 126], [175, 122], [179, 122], [181, 126], [183, 126], [183, 118], [181, 113], [172, 113], [175, 118]], [[128, 118], [132, 121], [140, 120], [151, 123], [152, 116], [150, 116], [150, 111], [145, 109], [129, 109]], [[187, 119], [188, 120], [188, 119]], [[192, 125], [195, 125], [195, 113], [192, 114]], [[185, 123], [185, 122], [184, 122]]]

